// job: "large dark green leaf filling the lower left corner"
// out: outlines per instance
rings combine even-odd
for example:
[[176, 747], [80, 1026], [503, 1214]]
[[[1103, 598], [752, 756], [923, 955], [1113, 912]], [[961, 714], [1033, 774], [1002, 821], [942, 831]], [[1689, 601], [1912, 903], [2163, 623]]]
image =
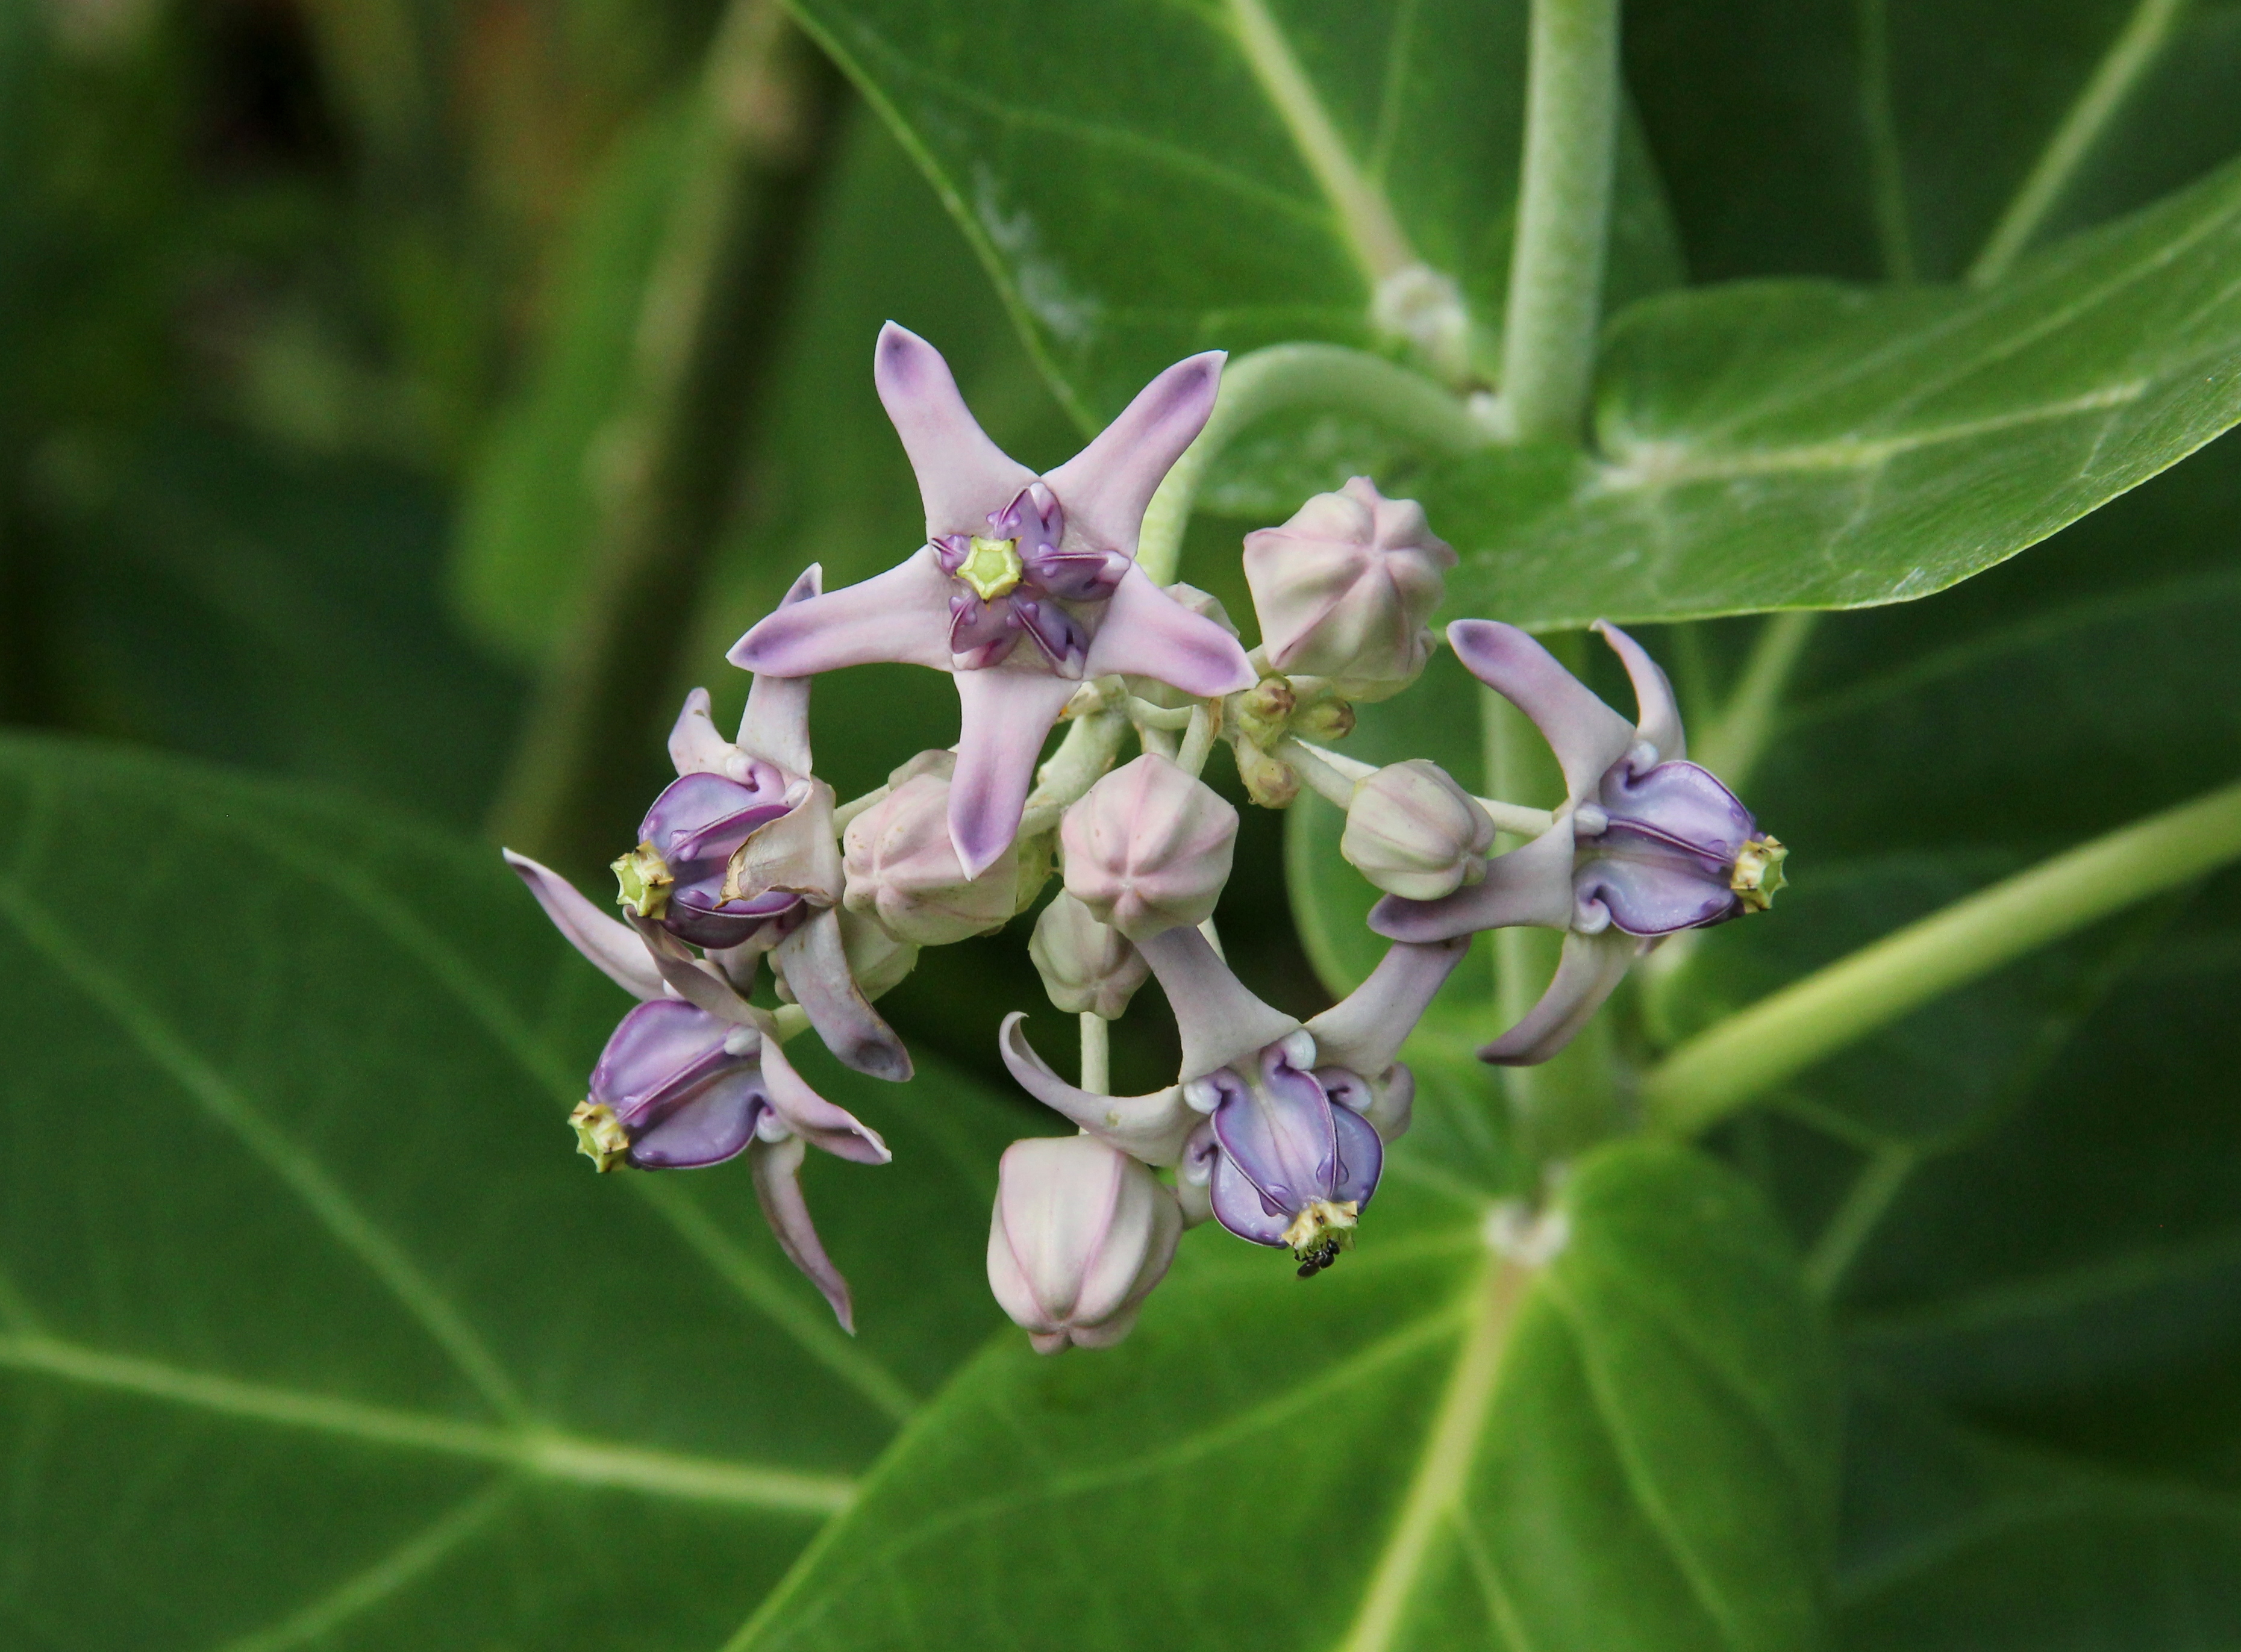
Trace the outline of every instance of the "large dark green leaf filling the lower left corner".
[[742, 1166], [594, 1177], [627, 1006], [495, 852], [0, 742], [11, 1645], [706, 1645], [995, 1320], [1015, 1116], [811, 1067], [843, 1336]]

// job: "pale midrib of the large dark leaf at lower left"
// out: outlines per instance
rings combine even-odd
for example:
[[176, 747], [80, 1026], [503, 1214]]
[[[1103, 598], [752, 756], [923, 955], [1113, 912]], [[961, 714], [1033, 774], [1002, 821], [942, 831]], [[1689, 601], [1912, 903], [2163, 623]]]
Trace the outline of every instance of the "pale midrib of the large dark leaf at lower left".
[[840, 1475], [690, 1457], [536, 1423], [495, 1428], [103, 1354], [54, 1336], [0, 1336], [0, 1367], [365, 1446], [498, 1464], [531, 1479], [639, 1491], [677, 1502], [829, 1515], [845, 1509], [856, 1491]]

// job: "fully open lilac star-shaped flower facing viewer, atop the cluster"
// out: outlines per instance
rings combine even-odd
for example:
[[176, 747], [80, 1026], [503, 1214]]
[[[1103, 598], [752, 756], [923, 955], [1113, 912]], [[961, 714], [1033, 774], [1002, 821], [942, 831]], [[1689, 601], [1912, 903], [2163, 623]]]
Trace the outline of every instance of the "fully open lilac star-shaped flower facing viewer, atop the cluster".
[[1136, 567], [1143, 511], [1212, 412], [1221, 361], [1168, 368], [1038, 477], [979, 428], [941, 354], [890, 321], [872, 377], [919, 475], [928, 542], [876, 578], [780, 607], [731, 663], [778, 677], [872, 661], [950, 672], [950, 838], [977, 876], [1020, 829], [1042, 737], [1076, 684], [1118, 672], [1201, 697], [1253, 686], [1237, 639]]

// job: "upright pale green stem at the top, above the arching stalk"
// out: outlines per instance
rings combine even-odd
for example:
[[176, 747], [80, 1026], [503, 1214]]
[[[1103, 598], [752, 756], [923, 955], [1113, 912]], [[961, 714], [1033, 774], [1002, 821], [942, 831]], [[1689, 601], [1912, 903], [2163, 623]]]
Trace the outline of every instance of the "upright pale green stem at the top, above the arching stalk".
[[1618, 157], [1618, 0], [1533, 0], [1526, 157], [1501, 334], [1519, 442], [1582, 442]]

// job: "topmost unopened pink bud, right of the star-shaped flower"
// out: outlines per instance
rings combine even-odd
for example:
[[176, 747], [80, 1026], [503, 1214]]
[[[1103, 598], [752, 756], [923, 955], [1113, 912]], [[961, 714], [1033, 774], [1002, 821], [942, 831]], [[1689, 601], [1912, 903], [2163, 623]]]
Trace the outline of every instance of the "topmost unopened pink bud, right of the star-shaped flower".
[[1347, 699], [1385, 699], [1416, 681], [1425, 628], [1454, 551], [1414, 500], [1387, 500], [1367, 477], [1318, 493], [1284, 527], [1246, 533], [1246, 583], [1268, 668], [1329, 677]]

